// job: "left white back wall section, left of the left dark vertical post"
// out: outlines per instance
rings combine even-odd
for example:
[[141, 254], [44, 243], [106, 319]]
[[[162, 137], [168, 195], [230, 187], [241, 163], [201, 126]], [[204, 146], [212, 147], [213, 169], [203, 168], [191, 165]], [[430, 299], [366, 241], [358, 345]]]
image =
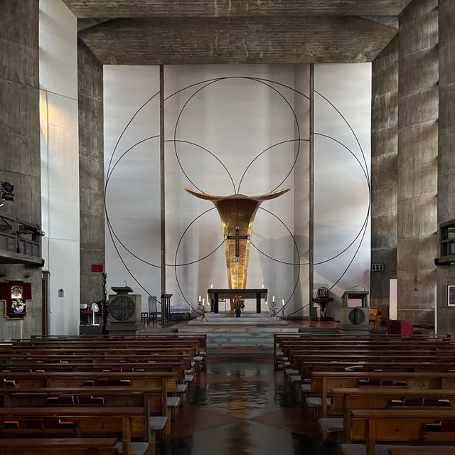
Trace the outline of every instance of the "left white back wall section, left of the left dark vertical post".
[[160, 269], [146, 264], [160, 264], [159, 138], [147, 140], [159, 136], [159, 97], [132, 117], [156, 92], [159, 67], [105, 65], [105, 178], [112, 171], [106, 192], [107, 289], [112, 294], [110, 288], [124, 286], [126, 280], [142, 295], [143, 311], [149, 294], [161, 295]]

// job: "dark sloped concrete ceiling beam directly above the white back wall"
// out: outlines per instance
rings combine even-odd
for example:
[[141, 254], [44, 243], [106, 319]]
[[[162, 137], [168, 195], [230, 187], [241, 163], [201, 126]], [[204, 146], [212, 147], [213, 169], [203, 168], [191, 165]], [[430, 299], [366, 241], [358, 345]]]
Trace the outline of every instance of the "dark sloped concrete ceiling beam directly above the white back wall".
[[350, 63], [397, 29], [354, 16], [116, 19], [79, 33], [104, 64]]

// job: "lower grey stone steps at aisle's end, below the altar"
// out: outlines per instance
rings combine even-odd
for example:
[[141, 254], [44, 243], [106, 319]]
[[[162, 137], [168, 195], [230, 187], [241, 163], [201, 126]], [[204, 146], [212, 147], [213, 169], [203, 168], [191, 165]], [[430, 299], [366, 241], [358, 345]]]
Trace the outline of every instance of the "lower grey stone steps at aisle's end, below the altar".
[[218, 348], [260, 348], [273, 350], [274, 333], [297, 333], [298, 328], [289, 327], [235, 327], [198, 326], [178, 328], [178, 333], [206, 333], [208, 352]]

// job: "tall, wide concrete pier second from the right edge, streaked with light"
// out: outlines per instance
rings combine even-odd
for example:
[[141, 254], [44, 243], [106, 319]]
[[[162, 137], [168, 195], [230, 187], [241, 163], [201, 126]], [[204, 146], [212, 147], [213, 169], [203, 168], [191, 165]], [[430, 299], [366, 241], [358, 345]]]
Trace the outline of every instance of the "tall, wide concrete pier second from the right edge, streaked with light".
[[398, 317], [434, 323], [437, 284], [438, 11], [414, 0], [400, 16]]

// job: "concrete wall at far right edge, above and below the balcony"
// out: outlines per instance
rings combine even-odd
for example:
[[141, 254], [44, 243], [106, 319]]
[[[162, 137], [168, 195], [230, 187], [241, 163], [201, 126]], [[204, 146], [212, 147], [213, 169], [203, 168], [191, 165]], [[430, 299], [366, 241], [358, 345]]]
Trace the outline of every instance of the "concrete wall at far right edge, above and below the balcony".
[[[455, 2], [439, 0], [438, 223], [455, 218]], [[447, 306], [447, 284], [455, 267], [438, 267], [438, 332], [455, 335], [455, 308]]]

